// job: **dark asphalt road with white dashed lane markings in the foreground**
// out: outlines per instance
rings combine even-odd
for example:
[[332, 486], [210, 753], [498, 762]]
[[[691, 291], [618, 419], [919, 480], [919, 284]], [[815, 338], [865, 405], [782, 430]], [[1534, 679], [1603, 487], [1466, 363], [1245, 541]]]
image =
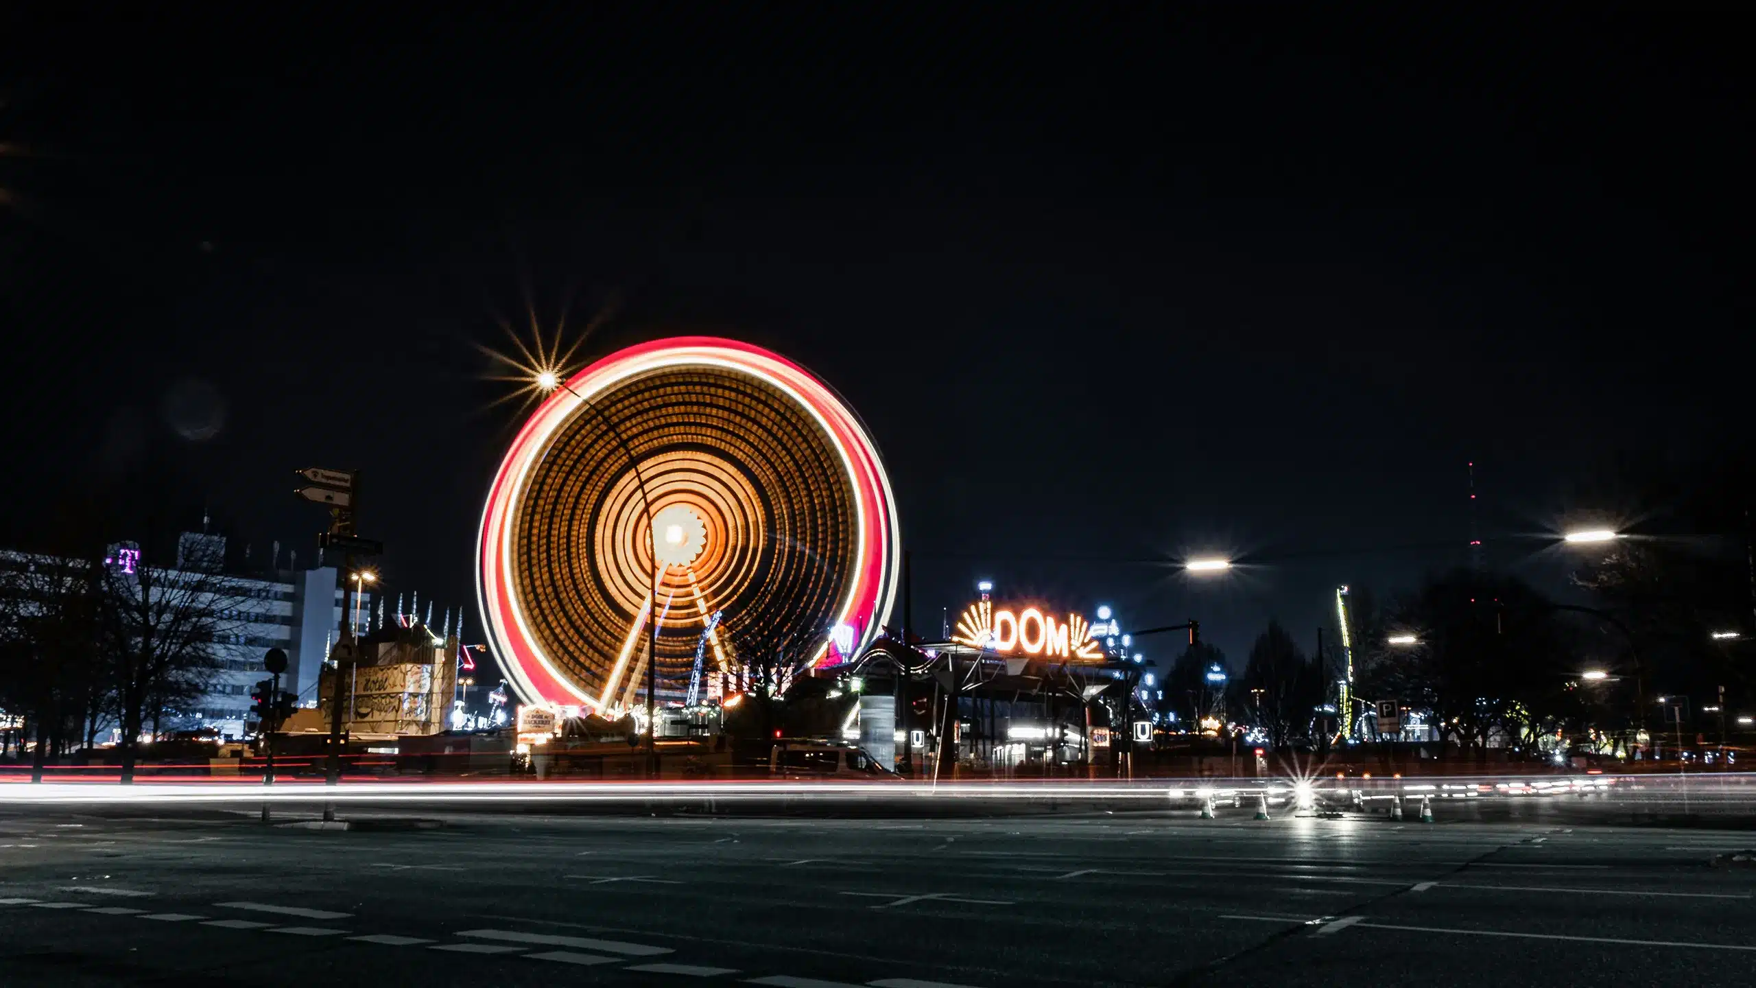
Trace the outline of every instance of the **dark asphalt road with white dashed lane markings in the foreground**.
[[1756, 981], [1756, 870], [1709, 865], [1738, 832], [506, 810], [0, 803], [0, 984]]

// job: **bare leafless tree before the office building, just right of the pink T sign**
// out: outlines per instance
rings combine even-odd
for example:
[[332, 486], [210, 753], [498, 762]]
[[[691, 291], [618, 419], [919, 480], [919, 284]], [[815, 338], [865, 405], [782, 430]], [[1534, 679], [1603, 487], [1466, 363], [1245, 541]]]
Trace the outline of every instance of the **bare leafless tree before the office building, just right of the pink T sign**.
[[246, 585], [221, 571], [223, 541], [184, 534], [177, 566], [107, 566], [104, 645], [121, 719], [121, 781], [133, 782], [140, 728], [177, 698], [197, 696], [220, 668], [218, 649], [246, 628]]

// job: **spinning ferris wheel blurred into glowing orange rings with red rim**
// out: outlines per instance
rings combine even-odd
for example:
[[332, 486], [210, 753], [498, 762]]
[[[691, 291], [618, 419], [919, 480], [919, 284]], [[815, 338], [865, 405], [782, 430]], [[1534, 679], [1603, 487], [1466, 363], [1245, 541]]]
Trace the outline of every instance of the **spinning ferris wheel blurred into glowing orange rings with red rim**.
[[[620, 712], [787, 649], [857, 656], [896, 596], [896, 501], [822, 381], [767, 350], [673, 338], [564, 381], [481, 513], [488, 642], [529, 703]], [[653, 642], [657, 622], [657, 642]]]

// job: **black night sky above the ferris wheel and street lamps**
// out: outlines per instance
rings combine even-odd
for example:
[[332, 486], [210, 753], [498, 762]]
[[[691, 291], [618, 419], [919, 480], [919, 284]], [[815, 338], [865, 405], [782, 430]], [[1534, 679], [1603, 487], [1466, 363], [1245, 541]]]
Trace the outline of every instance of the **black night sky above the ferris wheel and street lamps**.
[[307, 561], [291, 469], [358, 468], [392, 591], [479, 633], [478, 345], [530, 306], [836, 387], [929, 631], [994, 578], [1308, 647], [1335, 584], [1465, 561], [1470, 461], [1489, 561], [1552, 582], [1512, 536], [1580, 476], [1747, 450], [1730, 14], [1022, 9], [7, 5], [0, 538], [139, 483]]

